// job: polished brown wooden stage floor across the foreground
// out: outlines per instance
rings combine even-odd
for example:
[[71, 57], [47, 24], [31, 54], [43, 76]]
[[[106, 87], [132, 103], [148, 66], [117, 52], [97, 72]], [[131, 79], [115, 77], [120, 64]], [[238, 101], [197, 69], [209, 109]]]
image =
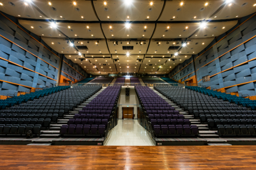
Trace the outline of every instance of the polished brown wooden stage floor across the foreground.
[[251, 170], [256, 146], [0, 146], [0, 170]]

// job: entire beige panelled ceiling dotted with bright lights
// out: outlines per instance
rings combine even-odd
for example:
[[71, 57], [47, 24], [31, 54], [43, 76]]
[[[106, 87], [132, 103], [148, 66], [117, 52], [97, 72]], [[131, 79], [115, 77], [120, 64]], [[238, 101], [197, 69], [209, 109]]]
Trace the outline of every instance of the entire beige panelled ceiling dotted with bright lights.
[[93, 75], [169, 73], [236, 26], [240, 18], [256, 12], [255, 0], [1, 3], [0, 11], [17, 17], [52, 49]]

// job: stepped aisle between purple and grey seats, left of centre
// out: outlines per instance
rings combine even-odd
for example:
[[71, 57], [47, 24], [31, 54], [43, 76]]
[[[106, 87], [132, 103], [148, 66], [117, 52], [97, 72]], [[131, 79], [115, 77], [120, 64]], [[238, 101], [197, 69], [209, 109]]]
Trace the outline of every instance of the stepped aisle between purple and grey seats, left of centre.
[[50, 124], [49, 130], [41, 130], [41, 132], [43, 134], [40, 135], [39, 137], [41, 137], [41, 138], [42, 137], [43, 138], [58, 138], [58, 137], [60, 137], [61, 136], [60, 135], [61, 126], [64, 125], [64, 124], [67, 124], [67, 121], [69, 119], [72, 119], [75, 114], [79, 113], [79, 110], [82, 110], [83, 107], [85, 107], [88, 103], [90, 103], [92, 101], [92, 99], [97, 97], [97, 95], [99, 95], [99, 93], [101, 93], [104, 89], [105, 88], [102, 88], [100, 91], [98, 91], [97, 93], [92, 95], [92, 97], [87, 99], [81, 105], [79, 105], [76, 108], [74, 108], [74, 110], [70, 110], [69, 113], [67, 115], [64, 115], [64, 117], [62, 119], [58, 119], [57, 123]]

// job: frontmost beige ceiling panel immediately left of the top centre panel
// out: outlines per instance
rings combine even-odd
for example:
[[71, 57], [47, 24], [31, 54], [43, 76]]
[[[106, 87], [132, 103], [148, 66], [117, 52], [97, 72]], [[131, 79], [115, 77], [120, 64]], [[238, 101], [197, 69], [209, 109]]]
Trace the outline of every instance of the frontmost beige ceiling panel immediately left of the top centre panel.
[[[89, 0], [33, 0], [36, 6], [54, 20], [97, 21]], [[76, 5], [74, 5], [76, 2]], [[55, 8], [56, 10], [53, 10]], [[62, 18], [61, 18], [62, 16]], [[83, 18], [82, 18], [83, 17]]]

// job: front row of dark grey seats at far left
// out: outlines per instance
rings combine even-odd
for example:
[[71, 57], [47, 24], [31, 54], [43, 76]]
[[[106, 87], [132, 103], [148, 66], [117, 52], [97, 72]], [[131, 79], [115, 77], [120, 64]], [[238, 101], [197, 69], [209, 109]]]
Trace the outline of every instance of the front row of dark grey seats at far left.
[[33, 135], [40, 135], [41, 125], [18, 125], [0, 124], [0, 134], [2, 135], [26, 135], [29, 130]]

